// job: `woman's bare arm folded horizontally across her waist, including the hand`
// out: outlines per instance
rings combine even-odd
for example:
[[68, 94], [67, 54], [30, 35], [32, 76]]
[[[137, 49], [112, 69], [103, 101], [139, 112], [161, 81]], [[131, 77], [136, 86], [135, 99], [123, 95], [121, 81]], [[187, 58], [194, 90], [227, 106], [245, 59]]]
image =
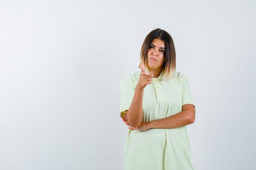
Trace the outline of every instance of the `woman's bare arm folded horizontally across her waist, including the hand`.
[[[124, 123], [127, 126], [130, 126], [127, 119], [121, 117]], [[195, 121], [195, 106], [193, 104], [184, 104], [182, 106], [182, 111], [175, 115], [165, 117], [162, 119], [157, 119], [148, 122], [141, 122], [139, 126], [133, 128], [130, 126], [131, 130], [148, 130], [148, 129], [170, 129], [170, 128], [178, 128], [182, 126], [186, 126], [189, 124], [193, 124]]]

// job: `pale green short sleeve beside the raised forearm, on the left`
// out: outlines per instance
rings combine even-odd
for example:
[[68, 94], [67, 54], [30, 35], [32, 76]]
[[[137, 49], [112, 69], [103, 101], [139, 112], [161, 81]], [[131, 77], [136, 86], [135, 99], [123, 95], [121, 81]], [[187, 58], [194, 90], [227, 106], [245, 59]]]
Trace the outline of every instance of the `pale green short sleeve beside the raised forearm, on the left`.
[[124, 117], [126, 110], [130, 108], [135, 93], [135, 84], [130, 77], [126, 77], [120, 82], [121, 106], [120, 115]]

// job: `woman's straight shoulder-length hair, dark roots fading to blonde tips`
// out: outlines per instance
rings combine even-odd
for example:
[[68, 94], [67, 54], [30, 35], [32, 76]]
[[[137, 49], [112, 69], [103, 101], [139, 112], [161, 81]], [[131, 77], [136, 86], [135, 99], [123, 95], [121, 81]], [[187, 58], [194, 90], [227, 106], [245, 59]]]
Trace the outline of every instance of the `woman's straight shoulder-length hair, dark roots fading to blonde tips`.
[[[140, 63], [143, 64], [145, 66], [146, 71], [148, 71], [148, 60], [147, 60], [148, 49], [150, 47], [150, 44], [156, 38], [164, 41], [165, 61], [162, 65], [162, 68], [164, 69], [164, 78], [169, 80], [173, 77], [176, 71], [176, 54], [175, 54], [173, 38], [169, 33], [164, 31], [163, 29], [155, 29], [146, 36], [141, 47]], [[139, 68], [140, 68], [140, 65], [139, 65]]]

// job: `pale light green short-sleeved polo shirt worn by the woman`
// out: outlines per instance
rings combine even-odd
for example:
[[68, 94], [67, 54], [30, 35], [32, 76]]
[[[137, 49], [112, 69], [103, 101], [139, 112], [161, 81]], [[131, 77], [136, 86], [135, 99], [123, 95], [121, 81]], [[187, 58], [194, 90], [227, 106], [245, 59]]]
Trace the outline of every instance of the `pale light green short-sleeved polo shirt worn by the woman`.
[[[176, 72], [169, 81], [153, 78], [144, 88], [143, 121], [175, 115], [184, 104], [194, 104], [188, 77]], [[129, 110], [140, 71], [121, 80], [120, 114]], [[125, 170], [193, 170], [186, 126], [172, 129], [128, 130], [124, 150]]]

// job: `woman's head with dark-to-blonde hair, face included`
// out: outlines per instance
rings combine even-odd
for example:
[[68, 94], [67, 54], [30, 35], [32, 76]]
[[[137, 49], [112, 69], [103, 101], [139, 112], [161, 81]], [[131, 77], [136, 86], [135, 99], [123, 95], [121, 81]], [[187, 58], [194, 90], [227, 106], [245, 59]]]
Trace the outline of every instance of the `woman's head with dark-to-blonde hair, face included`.
[[171, 35], [162, 29], [151, 31], [142, 44], [140, 62], [146, 71], [162, 66], [164, 78], [173, 77], [176, 70], [176, 55]]

